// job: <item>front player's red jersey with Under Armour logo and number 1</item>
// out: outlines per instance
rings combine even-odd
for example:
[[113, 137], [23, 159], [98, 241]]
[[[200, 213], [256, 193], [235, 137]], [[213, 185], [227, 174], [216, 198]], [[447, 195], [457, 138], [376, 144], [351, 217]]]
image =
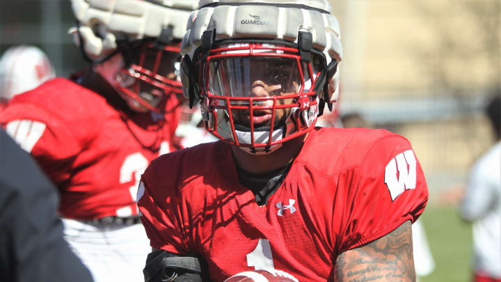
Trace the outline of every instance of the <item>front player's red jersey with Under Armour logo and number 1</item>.
[[264, 206], [239, 183], [221, 141], [155, 159], [138, 196], [151, 246], [199, 254], [215, 281], [266, 267], [333, 281], [338, 254], [415, 221], [428, 190], [403, 137], [317, 127]]

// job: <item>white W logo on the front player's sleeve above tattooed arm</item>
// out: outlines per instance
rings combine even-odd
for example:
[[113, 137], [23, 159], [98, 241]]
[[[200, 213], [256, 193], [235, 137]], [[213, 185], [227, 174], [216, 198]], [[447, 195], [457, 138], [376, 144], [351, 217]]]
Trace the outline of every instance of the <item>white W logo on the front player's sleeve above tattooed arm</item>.
[[413, 150], [401, 152], [386, 165], [385, 183], [390, 190], [392, 201], [405, 190], [415, 189], [416, 161]]

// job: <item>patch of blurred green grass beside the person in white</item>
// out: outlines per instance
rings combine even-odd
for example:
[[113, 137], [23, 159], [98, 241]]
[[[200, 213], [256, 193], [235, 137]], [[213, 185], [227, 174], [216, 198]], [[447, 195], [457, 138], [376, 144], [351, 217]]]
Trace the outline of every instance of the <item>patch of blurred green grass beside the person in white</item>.
[[421, 277], [420, 282], [471, 281], [471, 225], [452, 206], [428, 205], [420, 219], [436, 265], [434, 272]]

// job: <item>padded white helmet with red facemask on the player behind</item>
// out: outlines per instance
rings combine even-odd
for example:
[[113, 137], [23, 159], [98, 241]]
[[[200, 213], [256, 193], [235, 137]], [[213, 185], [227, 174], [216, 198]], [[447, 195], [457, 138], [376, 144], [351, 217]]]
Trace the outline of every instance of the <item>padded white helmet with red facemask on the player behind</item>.
[[84, 58], [97, 65], [121, 54], [113, 88], [126, 100], [162, 112], [167, 96], [182, 93], [180, 40], [196, 0], [72, 0], [70, 29]]

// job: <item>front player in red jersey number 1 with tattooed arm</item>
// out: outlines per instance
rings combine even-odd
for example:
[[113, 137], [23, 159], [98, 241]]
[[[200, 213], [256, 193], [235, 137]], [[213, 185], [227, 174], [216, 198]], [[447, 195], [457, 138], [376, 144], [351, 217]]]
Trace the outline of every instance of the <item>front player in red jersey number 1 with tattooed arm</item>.
[[191, 14], [183, 90], [221, 140], [163, 155], [143, 174], [147, 281], [176, 281], [157, 262], [186, 257], [202, 258], [213, 281], [257, 269], [415, 281], [411, 223], [428, 191], [411, 144], [386, 130], [315, 127], [342, 59], [330, 12], [326, 0], [202, 0]]

